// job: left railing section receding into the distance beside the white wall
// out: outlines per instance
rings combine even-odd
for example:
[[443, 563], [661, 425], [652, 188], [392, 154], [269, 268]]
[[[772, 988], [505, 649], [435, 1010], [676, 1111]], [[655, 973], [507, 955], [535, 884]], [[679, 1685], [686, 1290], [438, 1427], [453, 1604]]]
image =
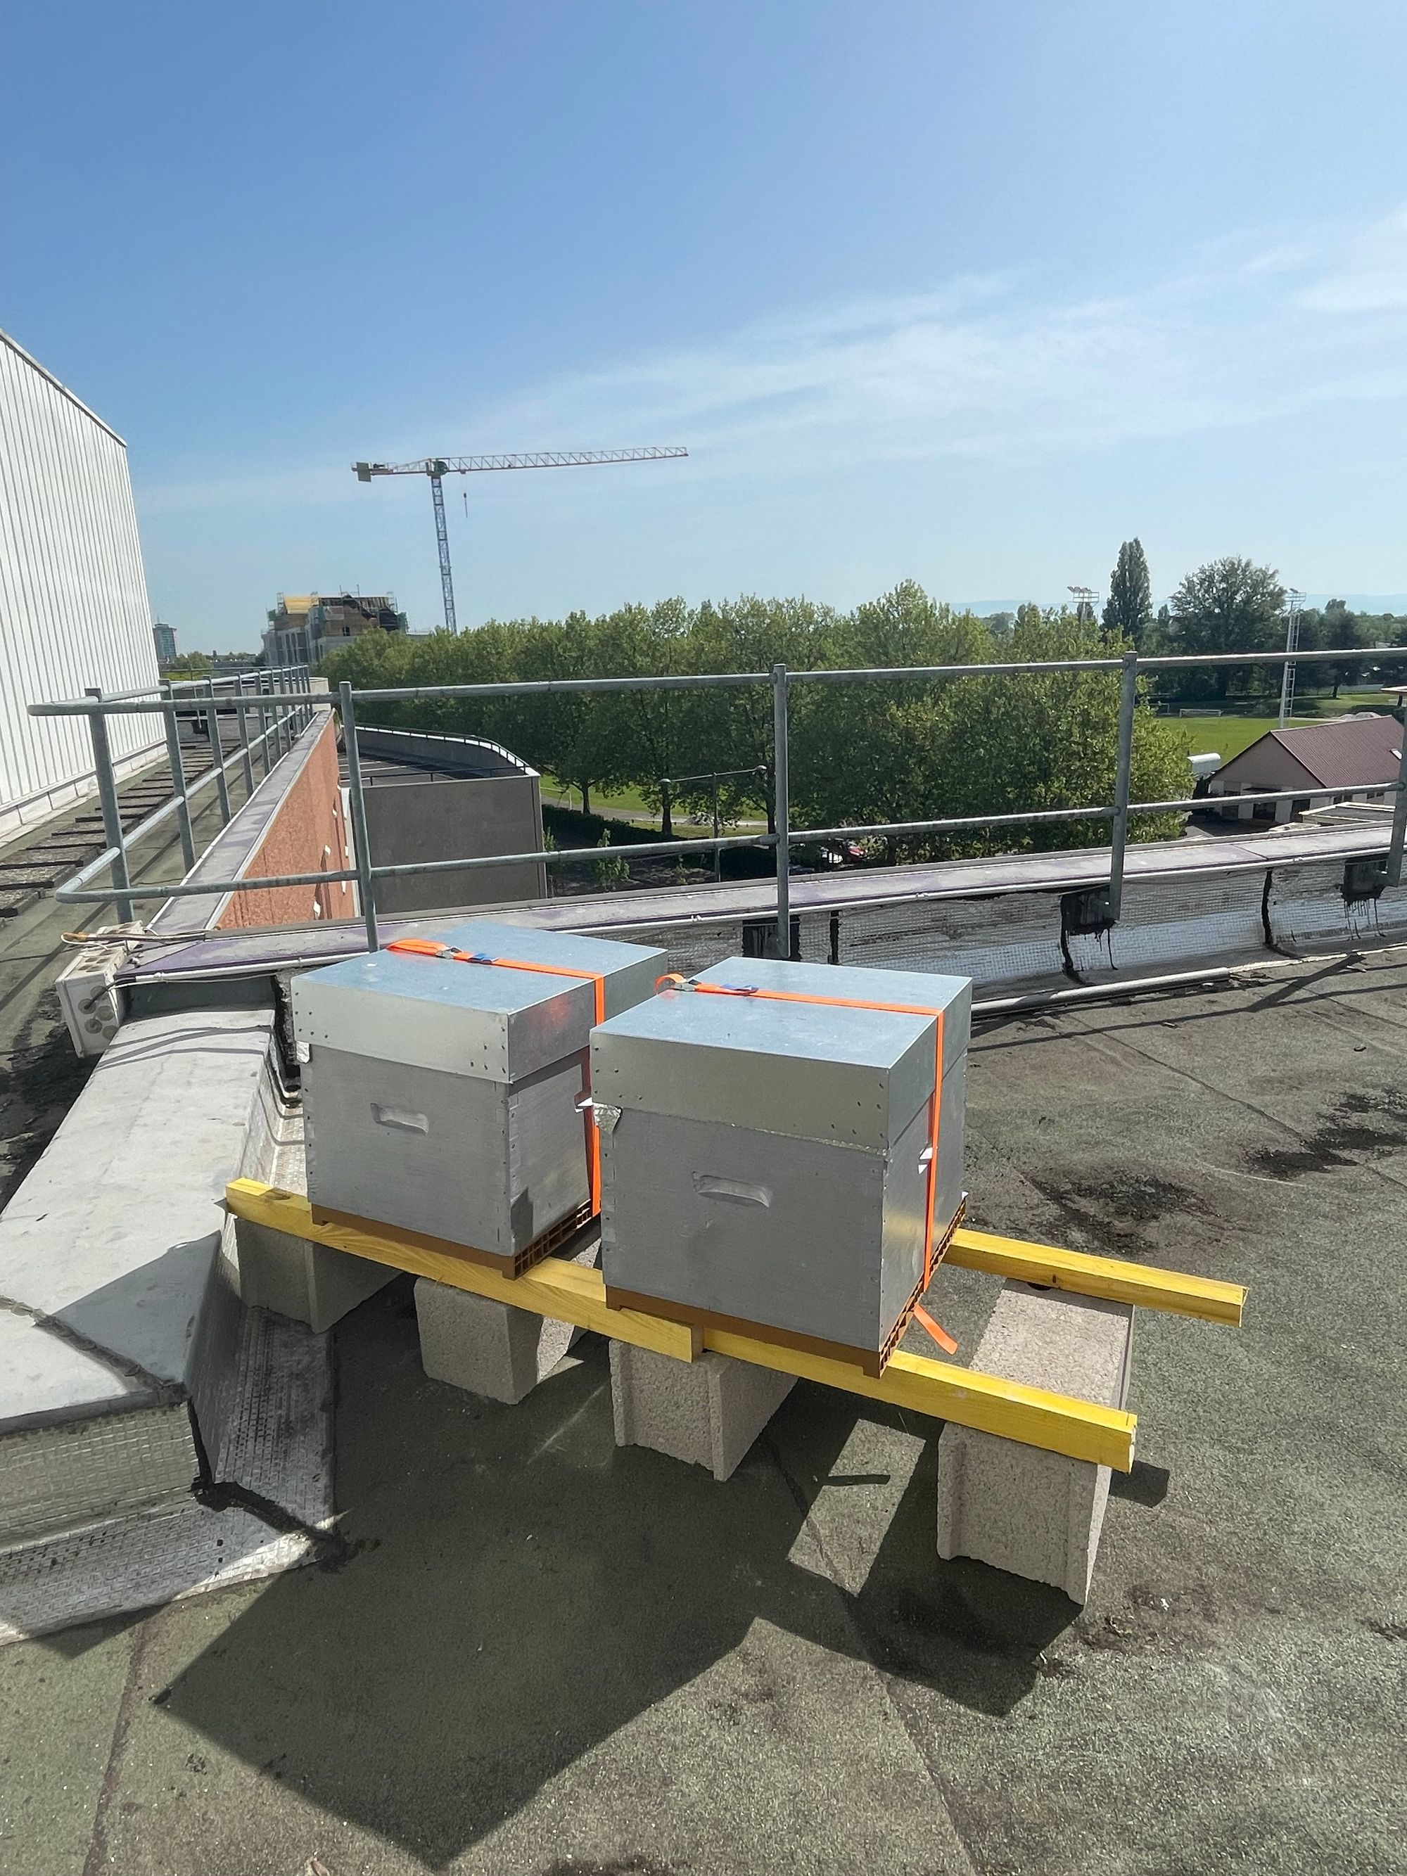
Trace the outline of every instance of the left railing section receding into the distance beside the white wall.
[[[169, 897], [173, 887], [133, 887], [128, 865], [129, 848], [154, 827], [176, 816], [180, 852], [186, 872], [195, 867], [195, 833], [191, 829], [191, 801], [214, 786], [219, 818], [227, 827], [233, 818], [229, 801], [229, 771], [244, 771], [246, 799], [253, 794], [255, 756], [265, 775], [293, 749], [293, 739], [311, 720], [311, 673], [306, 664], [280, 664], [268, 670], [236, 672], [231, 677], [163, 679], [139, 690], [86, 690], [81, 698], [62, 698], [54, 704], [30, 704], [30, 717], [86, 717], [92, 737], [98, 801], [103, 810], [103, 839], [107, 848], [86, 867], [66, 880], [54, 893], [62, 900], [114, 900], [118, 915], [131, 919], [137, 899]], [[219, 717], [234, 717], [234, 752], [225, 756], [225, 737]], [[118, 807], [113, 749], [107, 735], [109, 717], [161, 717], [165, 722], [167, 765], [171, 769], [171, 799], [133, 827], [122, 825]], [[259, 732], [250, 732], [250, 719], [259, 720]], [[210, 767], [195, 780], [186, 777], [186, 756], [180, 743], [180, 724], [199, 720], [210, 739]], [[111, 887], [90, 887], [88, 882], [109, 870]], [[176, 887], [178, 889], [178, 887]]]

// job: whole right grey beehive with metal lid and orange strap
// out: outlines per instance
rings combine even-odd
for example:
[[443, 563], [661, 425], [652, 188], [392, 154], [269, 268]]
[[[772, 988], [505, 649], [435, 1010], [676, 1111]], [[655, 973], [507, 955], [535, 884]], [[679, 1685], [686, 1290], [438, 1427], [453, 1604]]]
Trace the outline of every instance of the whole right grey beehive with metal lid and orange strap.
[[970, 1024], [968, 977], [737, 957], [597, 1028], [608, 1302], [880, 1373], [962, 1208]]

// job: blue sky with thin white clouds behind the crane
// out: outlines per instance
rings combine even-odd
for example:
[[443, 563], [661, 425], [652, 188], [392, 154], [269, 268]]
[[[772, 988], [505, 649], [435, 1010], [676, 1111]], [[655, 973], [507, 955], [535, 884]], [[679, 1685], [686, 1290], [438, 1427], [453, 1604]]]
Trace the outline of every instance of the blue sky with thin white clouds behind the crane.
[[[11, 0], [0, 325], [129, 446], [152, 604], [460, 621], [912, 576], [1407, 589], [1407, 8]], [[469, 495], [465, 514], [463, 493]]]

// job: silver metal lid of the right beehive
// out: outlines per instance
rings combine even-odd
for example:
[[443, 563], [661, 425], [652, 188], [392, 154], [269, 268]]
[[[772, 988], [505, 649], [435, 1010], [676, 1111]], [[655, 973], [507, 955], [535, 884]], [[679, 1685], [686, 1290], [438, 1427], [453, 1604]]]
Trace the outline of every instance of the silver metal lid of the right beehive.
[[966, 977], [752, 957], [698, 981], [827, 1002], [666, 991], [595, 1030], [598, 1103], [878, 1152], [932, 1094], [936, 1019], [844, 1004], [946, 1009], [970, 992]]

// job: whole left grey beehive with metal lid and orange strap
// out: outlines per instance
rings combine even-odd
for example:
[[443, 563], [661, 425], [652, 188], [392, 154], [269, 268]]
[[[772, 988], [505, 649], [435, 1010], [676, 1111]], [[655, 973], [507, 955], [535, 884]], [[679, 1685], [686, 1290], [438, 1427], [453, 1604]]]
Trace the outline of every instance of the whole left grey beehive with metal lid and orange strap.
[[469, 919], [295, 977], [313, 1216], [507, 1272], [546, 1255], [593, 1210], [595, 979], [619, 1015], [664, 966], [643, 946]]

